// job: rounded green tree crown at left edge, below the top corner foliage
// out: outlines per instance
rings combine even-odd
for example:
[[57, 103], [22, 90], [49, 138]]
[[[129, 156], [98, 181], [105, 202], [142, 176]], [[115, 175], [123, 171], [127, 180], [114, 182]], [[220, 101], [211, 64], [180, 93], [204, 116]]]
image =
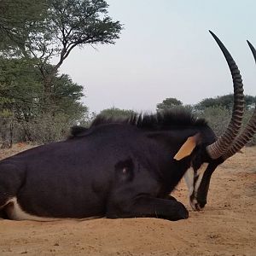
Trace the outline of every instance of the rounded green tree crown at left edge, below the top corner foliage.
[[[38, 108], [38, 98], [42, 93], [40, 77], [32, 61], [24, 59], [4, 59], [0, 57], [0, 103], [27, 119]], [[37, 110], [38, 111], [38, 110]]]

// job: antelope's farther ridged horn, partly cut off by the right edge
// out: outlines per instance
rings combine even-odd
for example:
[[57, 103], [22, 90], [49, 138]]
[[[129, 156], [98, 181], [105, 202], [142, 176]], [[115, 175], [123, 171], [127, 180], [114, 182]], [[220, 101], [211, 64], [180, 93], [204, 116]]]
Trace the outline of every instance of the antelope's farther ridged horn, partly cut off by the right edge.
[[[256, 63], [256, 49], [254, 49], [253, 44], [251, 44], [249, 41], [247, 41], [247, 43], [249, 44], [249, 47], [252, 50], [253, 58]], [[233, 154], [236, 154], [237, 151], [243, 148], [246, 145], [246, 143], [251, 140], [251, 138], [255, 133], [256, 133], [256, 105], [253, 111], [253, 115], [251, 119], [249, 119], [246, 127], [241, 132], [239, 137], [236, 138], [236, 141], [232, 143], [228, 152], [224, 154], [223, 156], [224, 160], [228, 159]]]

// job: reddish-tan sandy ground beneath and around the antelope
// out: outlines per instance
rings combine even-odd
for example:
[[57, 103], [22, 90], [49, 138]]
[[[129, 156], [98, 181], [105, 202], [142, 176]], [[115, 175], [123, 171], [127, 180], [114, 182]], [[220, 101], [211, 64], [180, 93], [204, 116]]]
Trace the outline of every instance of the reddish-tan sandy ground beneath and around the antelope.
[[[20, 151], [2, 150], [0, 158]], [[182, 182], [174, 195], [189, 207]], [[189, 208], [190, 209], [190, 208]], [[256, 255], [256, 148], [213, 174], [202, 212], [177, 222], [157, 218], [0, 219], [0, 255]]]

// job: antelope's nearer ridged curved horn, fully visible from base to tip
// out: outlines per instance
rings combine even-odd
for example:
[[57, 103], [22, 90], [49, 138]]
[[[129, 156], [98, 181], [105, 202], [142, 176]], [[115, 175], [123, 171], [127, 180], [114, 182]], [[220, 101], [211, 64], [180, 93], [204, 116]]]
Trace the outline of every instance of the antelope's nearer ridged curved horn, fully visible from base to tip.
[[230, 144], [236, 138], [241, 128], [241, 119], [244, 108], [244, 96], [241, 74], [238, 67], [236, 66], [236, 62], [233, 60], [229, 51], [224, 47], [224, 44], [222, 44], [217, 36], [213, 32], [209, 32], [212, 34], [212, 37], [215, 39], [219, 48], [222, 50], [224, 57], [230, 67], [230, 73], [232, 75], [234, 87], [234, 106], [230, 124], [228, 125], [226, 131], [224, 131], [224, 134], [219, 137], [215, 143], [207, 146], [207, 153], [209, 154], [209, 156], [212, 159], [218, 159], [230, 147]]

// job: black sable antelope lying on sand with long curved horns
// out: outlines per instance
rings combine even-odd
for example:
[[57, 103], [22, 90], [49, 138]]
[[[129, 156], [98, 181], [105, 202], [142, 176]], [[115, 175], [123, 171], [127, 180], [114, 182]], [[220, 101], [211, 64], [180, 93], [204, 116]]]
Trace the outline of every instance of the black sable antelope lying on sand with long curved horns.
[[[212, 33], [212, 32], [211, 32]], [[0, 207], [8, 218], [188, 218], [170, 193], [185, 176], [190, 204], [207, 203], [212, 172], [236, 154], [256, 131], [256, 111], [239, 134], [243, 85], [235, 61], [212, 33], [230, 67], [234, 108], [218, 139], [204, 119], [183, 111], [97, 117], [73, 137], [0, 161]], [[256, 61], [256, 51], [248, 42]]]

